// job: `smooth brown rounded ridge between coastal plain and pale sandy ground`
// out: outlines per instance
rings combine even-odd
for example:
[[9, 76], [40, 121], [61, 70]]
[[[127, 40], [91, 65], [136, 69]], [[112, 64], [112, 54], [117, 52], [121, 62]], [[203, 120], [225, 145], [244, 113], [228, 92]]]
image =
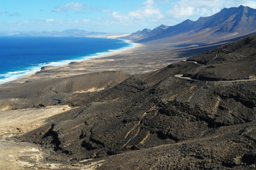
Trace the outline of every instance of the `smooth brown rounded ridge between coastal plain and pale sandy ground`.
[[[65, 101], [70, 106], [79, 105], [81, 102], [77, 102], [77, 98], [89, 97], [97, 91], [114, 87], [130, 76], [121, 71], [105, 71], [3, 87], [0, 90], [0, 110], [6, 107], [46, 107]], [[74, 100], [73, 103], [71, 100]]]

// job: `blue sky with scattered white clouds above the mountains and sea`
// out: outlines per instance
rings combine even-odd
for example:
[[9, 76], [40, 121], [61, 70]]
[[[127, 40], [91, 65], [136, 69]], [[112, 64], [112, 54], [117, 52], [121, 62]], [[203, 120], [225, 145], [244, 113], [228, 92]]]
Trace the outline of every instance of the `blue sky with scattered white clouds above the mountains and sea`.
[[0, 31], [131, 33], [240, 5], [256, 8], [256, 0], [0, 0]]

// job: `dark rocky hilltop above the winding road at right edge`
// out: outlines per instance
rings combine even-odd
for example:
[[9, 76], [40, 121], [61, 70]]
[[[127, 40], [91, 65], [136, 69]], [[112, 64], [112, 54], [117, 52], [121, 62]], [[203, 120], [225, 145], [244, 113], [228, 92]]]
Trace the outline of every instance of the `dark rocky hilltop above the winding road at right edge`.
[[205, 66], [184, 76], [199, 80], [242, 80], [256, 78], [256, 35], [187, 59]]

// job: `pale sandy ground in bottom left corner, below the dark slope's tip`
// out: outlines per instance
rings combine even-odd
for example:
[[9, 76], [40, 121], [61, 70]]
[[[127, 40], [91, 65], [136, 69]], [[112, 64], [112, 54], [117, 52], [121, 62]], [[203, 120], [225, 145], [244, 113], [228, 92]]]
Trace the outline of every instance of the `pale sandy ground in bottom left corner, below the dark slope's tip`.
[[2, 135], [0, 138], [0, 169], [16, 170], [16, 169], [96, 169], [100, 167], [102, 162], [89, 163], [49, 163], [44, 161], [46, 152], [42, 151], [37, 145], [27, 142], [8, 141], [6, 138], [10, 135]]

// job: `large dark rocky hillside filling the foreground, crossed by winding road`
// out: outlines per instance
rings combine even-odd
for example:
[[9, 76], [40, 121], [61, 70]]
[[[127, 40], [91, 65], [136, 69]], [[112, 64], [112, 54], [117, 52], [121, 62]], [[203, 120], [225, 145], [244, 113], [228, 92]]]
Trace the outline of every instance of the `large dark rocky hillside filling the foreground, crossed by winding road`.
[[93, 94], [49, 91], [36, 99], [41, 107], [53, 100], [80, 107], [17, 138], [42, 145], [51, 152], [47, 160], [104, 158], [101, 169], [253, 168], [255, 40], [252, 35], [153, 73], [120, 75], [127, 79]]

